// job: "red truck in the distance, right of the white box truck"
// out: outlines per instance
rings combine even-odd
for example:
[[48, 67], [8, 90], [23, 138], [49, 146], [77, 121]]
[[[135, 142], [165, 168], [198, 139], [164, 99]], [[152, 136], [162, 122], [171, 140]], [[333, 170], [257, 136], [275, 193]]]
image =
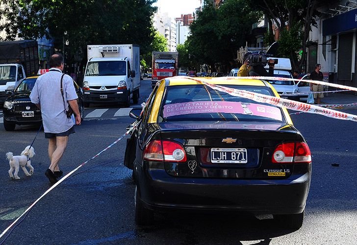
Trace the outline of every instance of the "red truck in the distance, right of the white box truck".
[[152, 87], [166, 77], [178, 75], [178, 52], [153, 52]]

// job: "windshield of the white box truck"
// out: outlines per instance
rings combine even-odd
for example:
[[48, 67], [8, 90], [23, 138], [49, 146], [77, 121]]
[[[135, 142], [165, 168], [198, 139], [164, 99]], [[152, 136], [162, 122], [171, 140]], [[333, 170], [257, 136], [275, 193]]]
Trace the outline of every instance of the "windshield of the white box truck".
[[91, 61], [88, 62], [86, 76], [126, 75], [125, 61]]

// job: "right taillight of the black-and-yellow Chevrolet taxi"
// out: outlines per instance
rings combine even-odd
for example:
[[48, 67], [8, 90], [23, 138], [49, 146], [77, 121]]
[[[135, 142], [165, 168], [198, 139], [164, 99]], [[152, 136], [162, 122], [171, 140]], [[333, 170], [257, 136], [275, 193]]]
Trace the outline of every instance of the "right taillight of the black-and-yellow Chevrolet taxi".
[[311, 153], [304, 142], [278, 145], [272, 156], [273, 163], [311, 163]]

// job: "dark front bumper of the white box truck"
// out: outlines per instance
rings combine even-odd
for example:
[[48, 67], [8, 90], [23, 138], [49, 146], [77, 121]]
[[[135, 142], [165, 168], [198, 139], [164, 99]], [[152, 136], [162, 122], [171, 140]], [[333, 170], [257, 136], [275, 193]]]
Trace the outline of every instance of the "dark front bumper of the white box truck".
[[[85, 90], [83, 94], [83, 101], [86, 103], [102, 103], [102, 102], [117, 102], [126, 103], [128, 102], [127, 89], [112, 90], [112, 91], [93, 91]], [[106, 98], [101, 98], [101, 96], [106, 96]]]

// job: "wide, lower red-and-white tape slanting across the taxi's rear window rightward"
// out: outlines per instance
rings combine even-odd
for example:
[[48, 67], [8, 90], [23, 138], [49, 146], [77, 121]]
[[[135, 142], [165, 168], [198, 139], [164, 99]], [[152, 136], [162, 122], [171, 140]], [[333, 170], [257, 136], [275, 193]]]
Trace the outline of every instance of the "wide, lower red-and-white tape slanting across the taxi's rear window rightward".
[[[172, 79], [175, 79], [175, 78], [172, 78]], [[193, 77], [189, 77], [188, 79], [195, 80], [201, 84], [204, 84], [204, 85], [210, 87], [211, 89], [218, 90], [218, 91], [227, 93], [227, 94], [235, 96], [235, 97], [249, 98], [249, 99], [252, 99], [257, 102], [269, 103], [272, 105], [276, 105], [279, 107], [285, 107], [287, 109], [291, 109], [291, 110], [295, 110], [295, 111], [319, 114], [319, 115], [323, 115], [326, 117], [357, 122], [357, 115], [339, 112], [339, 111], [331, 110], [328, 108], [323, 108], [323, 107], [312, 105], [312, 104], [306, 104], [303, 102], [297, 102], [297, 101], [290, 100], [290, 99], [278, 98], [278, 97], [262, 95], [262, 94], [258, 94], [258, 93], [254, 93], [254, 92], [250, 92], [250, 91], [228, 88], [228, 87], [224, 87], [224, 86], [220, 86], [220, 85], [216, 85], [216, 84], [212, 84], [212, 83], [207, 83], [204, 80], [193, 78]]]

